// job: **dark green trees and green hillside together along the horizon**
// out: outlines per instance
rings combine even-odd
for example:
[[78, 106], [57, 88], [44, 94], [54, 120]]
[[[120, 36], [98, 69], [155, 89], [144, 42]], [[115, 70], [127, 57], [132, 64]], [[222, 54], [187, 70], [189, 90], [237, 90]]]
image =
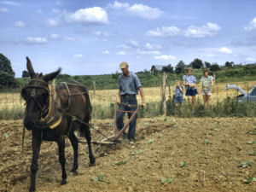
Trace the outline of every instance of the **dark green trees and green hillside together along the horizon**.
[[[233, 61], [226, 61], [224, 66], [220, 66], [216, 62], [210, 63], [207, 61], [201, 61], [198, 58], [195, 58], [195, 60], [191, 61], [189, 64], [185, 64], [184, 61], [178, 61], [176, 67], [169, 64], [163, 66], [160, 70], [153, 65], [150, 70], [145, 69], [142, 72], [137, 72], [137, 75], [143, 81], [145, 86], [158, 86], [158, 84], [161, 82], [160, 77], [158, 77], [160, 73], [170, 73], [170, 78], [176, 79], [185, 73], [187, 67], [193, 67], [195, 71], [197, 71], [195, 72], [195, 75], [196, 73], [201, 75], [200, 69], [206, 67], [212, 72], [219, 71], [216, 73], [216, 78], [221, 80], [219, 82], [229, 80], [227, 78], [234, 79], [234, 77], [236, 77], [236, 79], [244, 79], [244, 77], [247, 76], [248, 79], [251, 79], [251, 77], [255, 77], [256, 75], [256, 63], [242, 65], [241, 63], [235, 64]], [[66, 80], [75, 80], [81, 84], [84, 84], [89, 89], [92, 87], [92, 83], [95, 81], [97, 89], [115, 89], [117, 87], [116, 81], [119, 78], [119, 74], [119, 72], [106, 75], [71, 76], [68, 74], [61, 74], [59, 75], [57, 81], [61, 82]], [[15, 79], [15, 72], [12, 69], [11, 62], [5, 55], [0, 54], [0, 90], [20, 88], [28, 83], [29, 79], [27, 79], [27, 77], [29, 77], [29, 73], [24, 70], [22, 72], [22, 79]]]

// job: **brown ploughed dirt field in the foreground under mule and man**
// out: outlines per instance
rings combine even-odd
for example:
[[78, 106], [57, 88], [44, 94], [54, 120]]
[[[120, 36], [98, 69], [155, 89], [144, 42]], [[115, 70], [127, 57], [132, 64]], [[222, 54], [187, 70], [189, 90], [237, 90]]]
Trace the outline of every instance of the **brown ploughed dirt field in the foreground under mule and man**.
[[[111, 135], [112, 119], [92, 122]], [[61, 166], [55, 143], [41, 146], [37, 191], [256, 191], [255, 118], [138, 119], [137, 142], [94, 146], [96, 165], [89, 166], [86, 144], [79, 143], [79, 171], [72, 168], [73, 149], [67, 142], [67, 184], [60, 186]], [[28, 191], [32, 158], [30, 132], [21, 149], [22, 121], [0, 121], [0, 191]], [[92, 131], [93, 140], [101, 139]], [[208, 139], [209, 143], [204, 145]], [[80, 138], [81, 139], [81, 138]], [[152, 143], [148, 143], [148, 140]], [[132, 155], [132, 152], [139, 151]], [[114, 162], [126, 162], [114, 165]], [[246, 168], [241, 162], [253, 160]], [[186, 166], [180, 166], [181, 162]], [[103, 173], [104, 182], [92, 177]], [[160, 183], [172, 177], [171, 183]]]

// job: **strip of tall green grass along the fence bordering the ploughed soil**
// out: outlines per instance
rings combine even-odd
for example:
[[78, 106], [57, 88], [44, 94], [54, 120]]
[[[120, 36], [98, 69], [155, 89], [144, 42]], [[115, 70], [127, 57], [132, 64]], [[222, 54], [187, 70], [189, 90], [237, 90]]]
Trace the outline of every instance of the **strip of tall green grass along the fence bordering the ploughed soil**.
[[[138, 112], [138, 118], [151, 118], [161, 115], [160, 102], [148, 102], [147, 108], [141, 108]], [[256, 103], [243, 102], [238, 103], [230, 97], [224, 101], [216, 102], [209, 108], [205, 108], [201, 100], [197, 100], [194, 111], [191, 110], [189, 102], [184, 99], [183, 106], [180, 110], [175, 108], [173, 98], [166, 102], [167, 115], [183, 118], [192, 117], [253, 117], [256, 116]], [[112, 119], [114, 113], [114, 103], [106, 105], [92, 106], [92, 119]], [[13, 108], [2, 108], [0, 110], [0, 119], [23, 119], [24, 108], [16, 106]], [[168, 119], [167, 119], [168, 120]], [[174, 127], [175, 129], [177, 127]], [[173, 128], [173, 129], [174, 129]]]

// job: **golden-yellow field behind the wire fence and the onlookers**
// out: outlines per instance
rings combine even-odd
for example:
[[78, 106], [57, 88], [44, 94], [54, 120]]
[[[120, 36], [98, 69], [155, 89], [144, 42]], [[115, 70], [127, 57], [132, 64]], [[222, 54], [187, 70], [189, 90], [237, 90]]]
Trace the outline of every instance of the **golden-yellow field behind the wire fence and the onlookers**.
[[[233, 83], [229, 83], [233, 84]], [[243, 90], [249, 91], [256, 84], [256, 81], [248, 81], [248, 82], [236, 82], [234, 84], [238, 84]], [[212, 103], [221, 101], [227, 96], [233, 97], [240, 95], [240, 92], [236, 90], [228, 90], [224, 91], [227, 84], [219, 83], [215, 84], [213, 87], [212, 93]], [[160, 87], [145, 87], [143, 88], [145, 95], [145, 102], [159, 102], [161, 100], [161, 88]], [[171, 86], [171, 96], [174, 93], [174, 86]], [[96, 90], [95, 94], [93, 90], [89, 90], [90, 92], [90, 100], [92, 105], [106, 105], [109, 106], [110, 103], [114, 103], [117, 101], [117, 92], [118, 90]], [[197, 96], [200, 100], [201, 97], [201, 87], [198, 87], [199, 96]], [[166, 99], [169, 96], [169, 87], [166, 86]], [[141, 102], [140, 96], [137, 96], [138, 102]], [[0, 109], [1, 108], [13, 108], [13, 107], [24, 107], [24, 101], [20, 100], [20, 93], [0, 93]]]

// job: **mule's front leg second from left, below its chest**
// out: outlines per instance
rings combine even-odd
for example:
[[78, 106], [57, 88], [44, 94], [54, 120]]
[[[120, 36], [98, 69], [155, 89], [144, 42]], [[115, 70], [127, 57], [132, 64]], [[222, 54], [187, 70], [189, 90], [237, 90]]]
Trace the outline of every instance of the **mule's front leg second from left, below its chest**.
[[66, 158], [65, 158], [65, 136], [61, 135], [61, 138], [58, 141], [59, 146], [59, 161], [61, 163], [62, 170], [62, 181], [61, 184], [67, 183], [67, 173], [65, 170]]

